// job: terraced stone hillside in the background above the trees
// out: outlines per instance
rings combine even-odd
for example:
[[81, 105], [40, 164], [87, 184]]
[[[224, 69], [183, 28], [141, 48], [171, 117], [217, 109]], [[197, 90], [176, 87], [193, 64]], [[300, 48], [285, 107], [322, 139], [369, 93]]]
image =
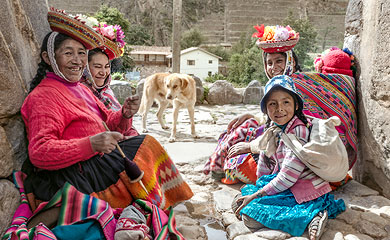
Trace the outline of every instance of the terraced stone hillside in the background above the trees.
[[[49, 4], [70, 13], [94, 13], [102, 3], [113, 6], [126, 4], [120, 0], [63, 1]], [[129, 4], [129, 3], [127, 3]], [[139, 3], [142, 5], [142, 3]], [[240, 35], [254, 31], [256, 24], [275, 25], [293, 11], [297, 17], [307, 16], [318, 30], [318, 46], [338, 46], [344, 39], [344, 18], [348, 0], [225, 0], [225, 12], [209, 14], [195, 25], [207, 43], [235, 43]], [[125, 7], [124, 7], [125, 8]]]

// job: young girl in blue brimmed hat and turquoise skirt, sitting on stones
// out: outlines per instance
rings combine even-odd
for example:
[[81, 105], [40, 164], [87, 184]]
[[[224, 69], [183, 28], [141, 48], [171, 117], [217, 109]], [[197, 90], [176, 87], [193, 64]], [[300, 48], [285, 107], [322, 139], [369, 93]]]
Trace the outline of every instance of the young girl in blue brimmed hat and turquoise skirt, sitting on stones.
[[261, 110], [267, 114], [267, 130], [250, 143], [229, 149], [229, 157], [258, 153], [258, 180], [246, 185], [233, 211], [251, 230], [279, 229], [301, 236], [309, 228], [310, 239], [319, 239], [328, 216], [345, 210], [343, 200], [330, 195], [330, 185], [310, 170], [280, 139], [280, 133], [295, 134], [302, 144], [309, 141], [310, 123], [302, 113], [303, 102], [291, 77], [273, 77], [265, 86]]

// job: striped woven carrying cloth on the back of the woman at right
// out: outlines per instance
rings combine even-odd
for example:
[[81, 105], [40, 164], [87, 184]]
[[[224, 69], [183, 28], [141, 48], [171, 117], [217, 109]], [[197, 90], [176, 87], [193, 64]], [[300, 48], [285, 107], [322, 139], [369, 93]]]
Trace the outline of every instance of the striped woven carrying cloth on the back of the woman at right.
[[329, 118], [337, 116], [342, 126], [337, 130], [348, 148], [351, 146], [349, 167], [356, 161], [357, 115], [355, 79], [341, 74], [295, 73], [292, 75], [298, 94], [303, 98], [306, 115]]

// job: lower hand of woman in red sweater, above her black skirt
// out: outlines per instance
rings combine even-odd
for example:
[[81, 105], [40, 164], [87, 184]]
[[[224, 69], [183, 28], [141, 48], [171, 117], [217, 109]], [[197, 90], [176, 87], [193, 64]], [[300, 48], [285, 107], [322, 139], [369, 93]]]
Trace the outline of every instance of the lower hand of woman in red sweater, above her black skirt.
[[118, 141], [123, 140], [119, 132], [102, 132], [89, 137], [94, 152], [110, 153], [116, 148]]

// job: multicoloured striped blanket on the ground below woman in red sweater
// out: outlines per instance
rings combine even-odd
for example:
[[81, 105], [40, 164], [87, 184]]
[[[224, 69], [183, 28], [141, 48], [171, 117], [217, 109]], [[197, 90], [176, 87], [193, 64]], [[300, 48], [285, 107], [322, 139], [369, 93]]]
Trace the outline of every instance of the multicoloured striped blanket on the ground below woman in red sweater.
[[[26, 175], [19, 171], [15, 172], [13, 176], [15, 186], [19, 189], [21, 194], [21, 204], [15, 211], [11, 226], [7, 229], [2, 238], [3, 240], [57, 239], [54, 234], [57, 227], [49, 229], [43, 223], [39, 223], [32, 228], [27, 226], [29, 219], [53, 207], [60, 207], [56, 223], [57, 226], [70, 226], [76, 223], [85, 223], [87, 220], [95, 220], [99, 227], [94, 228], [94, 234], [98, 235], [99, 233], [96, 232], [101, 232], [101, 238], [109, 240], [114, 239], [117, 218], [122, 209], [113, 209], [107, 202], [83, 194], [69, 183], [65, 183], [64, 187], [61, 188], [50, 201], [42, 202], [33, 212], [24, 192], [23, 181], [26, 178]], [[156, 205], [141, 199], [136, 200], [133, 205], [142, 210], [142, 213], [148, 219], [148, 226], [150, 229], [153, 229], [151, 234], [154, 236], [154, 239], [184, 239], [176, 228], [176, 220], [172, 207], [168, 210], [162, 210]], [[72, 231], [74, 231], [74, 229], [77, 228], [72, 228]], [[78, 229], [79, 231], [83, 231], [80, 230], [82, 228]], [[64, 234], [64, 231], [66, 234], [66, 229], [62, 229], [62, 234]], [[68, 233], [68, 235], [71, 234], [78, 236], [78, 239], [82, 238], [82, 234], [85, 235], [83, 232]]]

